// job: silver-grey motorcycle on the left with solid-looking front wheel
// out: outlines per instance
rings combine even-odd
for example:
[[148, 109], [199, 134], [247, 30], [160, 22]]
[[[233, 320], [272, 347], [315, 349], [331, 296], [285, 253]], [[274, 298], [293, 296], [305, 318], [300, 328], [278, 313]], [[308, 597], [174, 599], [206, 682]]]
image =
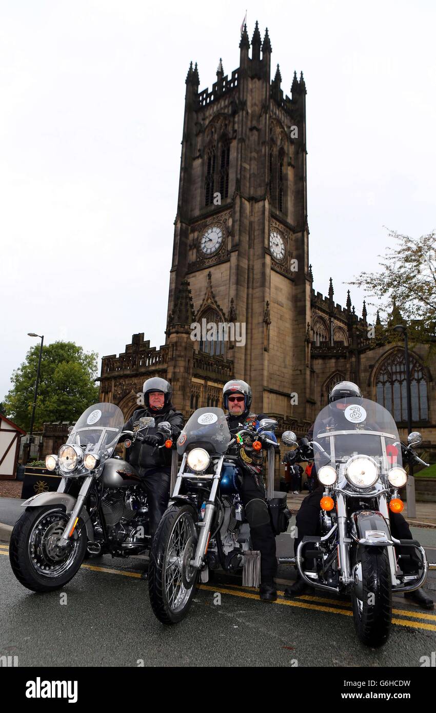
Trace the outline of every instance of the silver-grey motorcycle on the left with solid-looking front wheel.
[[[16, 578], [34, 592], [63, 587], [87, 555], [129, 557], [150, 548], [147, 496], [135, 468], [114, 451], [122, 438], [130, 448], [155, 420], [136, 421], [123, 431], [124, 416], [114, 404], [94, 404], [71, 428], [58, 455], [46, 457], [46, 468], [62, 480], [56, 492], [39, 493], [23, 504], [14, 525], [9, 559]], [[157, 430], [159, 447], [172, 447], [171, 426]], [[174, 451], [175, 454], [175, 451]]]

